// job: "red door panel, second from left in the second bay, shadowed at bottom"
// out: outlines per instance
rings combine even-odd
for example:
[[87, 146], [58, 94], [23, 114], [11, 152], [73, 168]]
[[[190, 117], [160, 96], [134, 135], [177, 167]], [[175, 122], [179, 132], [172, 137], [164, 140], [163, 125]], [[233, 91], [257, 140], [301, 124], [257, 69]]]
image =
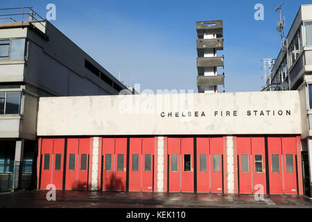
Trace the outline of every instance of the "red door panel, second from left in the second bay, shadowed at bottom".
[[[117, 169], [119, 155], [123, 155], [123, 169]], [[127, 169], [127, 138], [116, 138], [114, 190], [125, 191], [126, 169]]]

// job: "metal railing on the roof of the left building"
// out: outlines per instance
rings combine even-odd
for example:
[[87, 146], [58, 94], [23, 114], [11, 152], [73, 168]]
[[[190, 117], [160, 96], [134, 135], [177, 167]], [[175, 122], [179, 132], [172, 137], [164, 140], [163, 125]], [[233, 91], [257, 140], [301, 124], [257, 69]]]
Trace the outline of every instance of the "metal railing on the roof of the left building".
[[[0, 8], [0, 20], [12, 22], [36, 22], [46, 28], [46, 19], [37, 14], [33, 7]], [[0, 21], [1, 22], [1, 21]]]

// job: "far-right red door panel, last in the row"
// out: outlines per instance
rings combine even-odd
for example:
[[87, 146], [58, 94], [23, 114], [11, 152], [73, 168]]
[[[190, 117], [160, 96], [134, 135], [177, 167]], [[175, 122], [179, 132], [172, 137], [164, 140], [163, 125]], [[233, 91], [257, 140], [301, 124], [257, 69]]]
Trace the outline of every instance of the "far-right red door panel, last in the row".
[[[282, 137], [281, 147], [284, 167], [284, 194], [297, 194], [296, 161], [297, 154], [296, 137]], [[293, 155], [293, 171], [286, 171], [286, 155]]]

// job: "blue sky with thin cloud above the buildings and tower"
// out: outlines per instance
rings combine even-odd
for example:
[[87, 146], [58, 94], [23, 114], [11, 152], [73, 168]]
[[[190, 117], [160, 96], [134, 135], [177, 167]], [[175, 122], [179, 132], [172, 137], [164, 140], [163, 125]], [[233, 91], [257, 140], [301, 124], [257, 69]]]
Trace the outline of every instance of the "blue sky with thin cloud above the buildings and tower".
[[[37, 0], [1, 1], [1, 8], [33, 6], [46, 17], [55, 3], [62, 33], [125, 85], [142, 89], [196, 87], [196, 22], [223, 20], [225, 92], [259, 91], [263, 84], [261, 58], [276, 58], [280, 49], [275, 12], [284, 0]], [[254, 5], [264, 6], [264, 20], [254, 19]], [[312, 1], [286, 1], [286, 33], [300, 8]], [[220, 87], [223, 90], [223, 87]]]

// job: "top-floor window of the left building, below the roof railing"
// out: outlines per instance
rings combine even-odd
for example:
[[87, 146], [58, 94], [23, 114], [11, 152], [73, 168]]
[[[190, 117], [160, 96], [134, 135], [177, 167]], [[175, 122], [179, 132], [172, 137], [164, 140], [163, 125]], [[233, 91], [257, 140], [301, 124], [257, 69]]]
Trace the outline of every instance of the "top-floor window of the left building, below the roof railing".
[[0, 40], [0, 60], [24, 60], [25, 39]]

